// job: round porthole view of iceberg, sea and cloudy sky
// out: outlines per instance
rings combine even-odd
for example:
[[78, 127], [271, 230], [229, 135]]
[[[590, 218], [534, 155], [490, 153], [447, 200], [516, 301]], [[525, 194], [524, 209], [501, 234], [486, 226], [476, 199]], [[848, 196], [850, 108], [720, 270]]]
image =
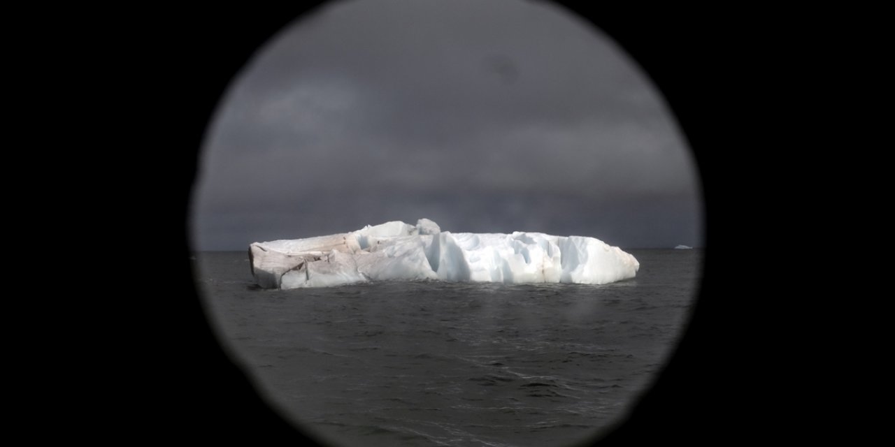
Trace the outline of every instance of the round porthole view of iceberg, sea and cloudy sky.
[[324, 445], [596, 439], [695, 301], [686, 142], [635, 62], [556, 4], [324, 4], [238, 73], [201, 156], [217, 336]]

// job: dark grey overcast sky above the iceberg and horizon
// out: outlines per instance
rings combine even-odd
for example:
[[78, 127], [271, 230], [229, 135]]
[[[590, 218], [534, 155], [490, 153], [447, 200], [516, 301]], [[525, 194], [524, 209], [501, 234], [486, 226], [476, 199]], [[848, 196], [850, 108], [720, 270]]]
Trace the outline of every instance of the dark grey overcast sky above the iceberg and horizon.
[[427, 217], [451, 232], [701, 246], [695, 163], [635, 61], [555, 4], [341, 1], [222, 98], [193, 248]]

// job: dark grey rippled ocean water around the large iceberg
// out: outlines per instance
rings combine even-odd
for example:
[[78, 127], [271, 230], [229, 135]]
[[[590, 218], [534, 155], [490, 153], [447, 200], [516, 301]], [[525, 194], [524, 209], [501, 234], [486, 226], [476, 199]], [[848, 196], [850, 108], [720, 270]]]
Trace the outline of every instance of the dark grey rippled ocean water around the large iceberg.
[[324, 445], [548, 446], [626, 415], [686, 325], [699, 249], [631, 249], [606, 285], [367, 283], [265, 291], [245, 252], [196, 255], [219, 340]]

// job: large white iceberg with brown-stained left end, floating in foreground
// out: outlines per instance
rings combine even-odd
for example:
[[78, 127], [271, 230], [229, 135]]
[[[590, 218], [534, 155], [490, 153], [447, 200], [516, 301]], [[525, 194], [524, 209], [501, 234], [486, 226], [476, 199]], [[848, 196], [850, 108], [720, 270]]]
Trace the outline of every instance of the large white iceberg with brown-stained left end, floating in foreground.
[[633, 278], [640, 268], [631, 254], [590, 237], [442, 232], [429, 219], [253, 242], [249, 259], [265, 289], [422, 280], [605, 284]]

